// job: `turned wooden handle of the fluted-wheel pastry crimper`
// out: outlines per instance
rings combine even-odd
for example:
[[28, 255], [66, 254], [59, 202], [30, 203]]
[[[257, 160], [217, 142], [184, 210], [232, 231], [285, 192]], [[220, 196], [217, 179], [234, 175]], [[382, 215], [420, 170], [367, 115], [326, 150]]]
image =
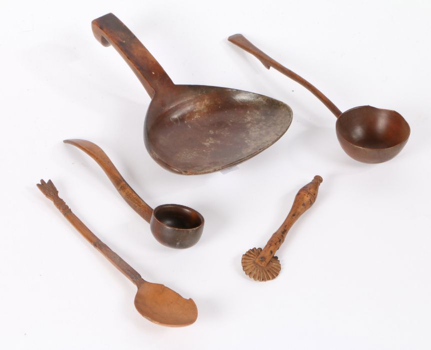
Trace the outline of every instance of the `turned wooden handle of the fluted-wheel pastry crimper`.
[[259, 256], [256, 258], [258, 265], [266, 266], [275, 252], [283, 244], [286, 234], [295, 221], [307, 211], [316, 201], [319, 185], [322, 183], [323, 178], [319, 175], [314, 176], [313, 180], [302, 187], [295, 196], [292, 208], [289, 211], [286, 219], [280, 228], [271, 236], [262, 249]]

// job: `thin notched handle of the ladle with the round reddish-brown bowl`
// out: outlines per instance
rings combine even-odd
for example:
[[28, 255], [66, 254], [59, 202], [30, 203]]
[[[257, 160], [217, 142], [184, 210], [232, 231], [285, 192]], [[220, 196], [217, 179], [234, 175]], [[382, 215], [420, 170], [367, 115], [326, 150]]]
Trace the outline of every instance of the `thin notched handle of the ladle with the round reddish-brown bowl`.
[[235, 45], [241, 47], [242, 49], [246, 50], [247, 52], [250, 52], [252, 55], [256, 56], [257, 59], [259, 59], [262, 64], [268, 69], [270, 67], [273, 67], [274, 69], [277, 69], [280, 73], [287, 75], [296, 82], [299, 82], [302, 86], [307, 88], [317, 98], [319, 98], [323, 102], [323, 104], [325, 104], [329, 108], [329, 110], [334, 113], [337, 118], [342, 114], [341, 110], [338, 109], [338, 107], [334, 103], [332, 103], [332, 101], [328, 97], [326, 97], [316, 86], [310, 84], [303, 77], [299, 76], [297, 73], [286, 68], [284, 65], [281, 65], [279, 62], [268, 56], [265, 52], [263, 52], [255, 45], [253, 45], [249, 40], [247, 40], [244, 35], [234, 34], [229, 36], [228, 40], [230, 42], [233, 42]]

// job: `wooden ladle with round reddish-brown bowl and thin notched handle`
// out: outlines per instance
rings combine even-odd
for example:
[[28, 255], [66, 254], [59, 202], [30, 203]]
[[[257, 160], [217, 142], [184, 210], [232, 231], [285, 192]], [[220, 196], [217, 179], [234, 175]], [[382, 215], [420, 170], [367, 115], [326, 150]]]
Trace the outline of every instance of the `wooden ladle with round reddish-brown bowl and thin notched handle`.
[[381, 163], [395, 157], [410, 136], [410, 126], [395, 110], [369, 105], [351, 108], [344, 113], [315, 86], [261, 51], [242, 34], [229, 36], [229, 41], [256, 56], [268, 69], [279, 72], [311, 91], [337, 117], [338, 140], [352, 158], [365, 163]]

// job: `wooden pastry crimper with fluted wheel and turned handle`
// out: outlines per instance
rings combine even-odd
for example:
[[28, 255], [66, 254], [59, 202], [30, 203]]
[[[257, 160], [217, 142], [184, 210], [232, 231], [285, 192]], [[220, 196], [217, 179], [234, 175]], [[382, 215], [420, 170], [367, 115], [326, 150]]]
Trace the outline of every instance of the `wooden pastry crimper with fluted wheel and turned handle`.
[[281, 270], [280, 261], [274, 256], [283, 244], [287, 232], [296, 220], [316, 201], [319, 185], [323, 179], [314, 176], [313, 180], [303, 186], [295, 196], [292, 208], [279, 229], [273, 233], [265, 247], [248, 250], [241, 258], [244, 272], [254, 280], [267, 281], [278, 276]]

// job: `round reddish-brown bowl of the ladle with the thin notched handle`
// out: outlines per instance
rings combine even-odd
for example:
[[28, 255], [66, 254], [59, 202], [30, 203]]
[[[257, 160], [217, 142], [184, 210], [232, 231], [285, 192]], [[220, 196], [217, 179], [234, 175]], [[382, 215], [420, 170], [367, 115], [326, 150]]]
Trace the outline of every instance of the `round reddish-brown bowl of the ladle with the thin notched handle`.
[[369, 105], [341, 114], [335, 124], [338, 140], [352, 158], [382, 163], [395, 157], [410, 136], [410, 126], [395, 110]]

